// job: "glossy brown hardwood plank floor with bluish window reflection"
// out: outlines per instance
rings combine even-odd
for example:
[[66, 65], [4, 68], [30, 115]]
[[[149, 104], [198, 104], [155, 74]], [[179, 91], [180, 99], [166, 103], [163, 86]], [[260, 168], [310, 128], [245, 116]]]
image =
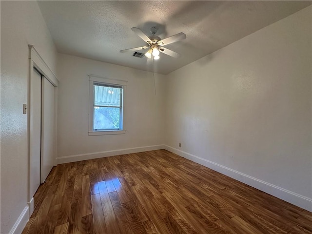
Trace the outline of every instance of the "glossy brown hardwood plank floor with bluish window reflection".
[[61, 164], [23, 234], [312, 234], [312, 213], [166, 150]]

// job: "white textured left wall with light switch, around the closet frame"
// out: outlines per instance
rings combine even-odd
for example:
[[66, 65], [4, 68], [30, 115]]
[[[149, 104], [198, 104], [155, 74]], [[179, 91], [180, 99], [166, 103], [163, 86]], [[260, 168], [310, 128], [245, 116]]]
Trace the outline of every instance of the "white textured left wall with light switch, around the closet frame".
[[[1, 1], [1, 233], [27, 221], [28, 44], [54, 71], [57, 52], [37, 1]], [[20, 216], [21, 215], [21, 216]], [[21, 230], [20, 230], [21, 229]]]

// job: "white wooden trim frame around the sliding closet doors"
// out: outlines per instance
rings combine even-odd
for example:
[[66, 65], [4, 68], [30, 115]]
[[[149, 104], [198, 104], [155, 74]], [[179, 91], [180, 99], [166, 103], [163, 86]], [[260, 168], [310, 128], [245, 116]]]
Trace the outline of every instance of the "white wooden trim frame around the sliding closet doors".
[[34, 45], [28, 45], [29, 49], [29, 70], [28, 70], [28, 84], [27, 84], [27, 147], [28, 147], [28, 192], [27, 192], [27, 200], [28, 200], [28, 206], [29, 206], [29, 216], [33, 214], [34, 212], [34, 197], [32, 195], [32, 191], [30, 188], [30, 179], [31, 179], [31, 170], [30, 170], [30, 81], [31, 78], [34, 76], [34, 68], [39, 71], [39, 73], [44, 76], [46, 79], [48, 79], [51, 84], [55, 87], [54, 89], [54, 166], [56, 166], [56, 154], [57, 154], [57, 106], [58, 106], [58, 85], [59, 80], [56, 77], [56, 75], [53, 73], [53, 71], [49, 68], [49, 66], [46, 64], [46, 62], [42, 59], [42, 57], [39, 55], [38, 51], [35, 49]]

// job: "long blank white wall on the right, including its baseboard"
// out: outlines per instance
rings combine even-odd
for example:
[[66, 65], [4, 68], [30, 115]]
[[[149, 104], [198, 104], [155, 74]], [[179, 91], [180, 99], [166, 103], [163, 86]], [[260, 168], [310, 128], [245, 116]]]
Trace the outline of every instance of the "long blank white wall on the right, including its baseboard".
[[311, 17], [170, 73], [166, 148], [312, 211]]

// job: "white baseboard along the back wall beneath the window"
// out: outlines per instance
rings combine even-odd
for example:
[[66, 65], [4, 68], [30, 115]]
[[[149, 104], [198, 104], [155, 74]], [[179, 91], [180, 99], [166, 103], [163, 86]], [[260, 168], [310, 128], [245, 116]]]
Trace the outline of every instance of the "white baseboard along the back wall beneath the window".
[[57, 163], [61, 164], [61, 163], [68, 163], [68, 162], [77, 162], [77, 161], [100, 158], [100, 157], [110, 157], [110, 156], [132, 154], [132, 153], [151, 151], [151, 150], [160, 150], [163, 148], [164, 148], [164, 145], [150, 145], [150, 146], [135, 147], [135, 148], [128, 148], [128, 149], [108, 150], [108, 151], [95, 152], [95, 153], [89, 153], [89, 154], [62, 156], [62, 157], [57, 157]]

